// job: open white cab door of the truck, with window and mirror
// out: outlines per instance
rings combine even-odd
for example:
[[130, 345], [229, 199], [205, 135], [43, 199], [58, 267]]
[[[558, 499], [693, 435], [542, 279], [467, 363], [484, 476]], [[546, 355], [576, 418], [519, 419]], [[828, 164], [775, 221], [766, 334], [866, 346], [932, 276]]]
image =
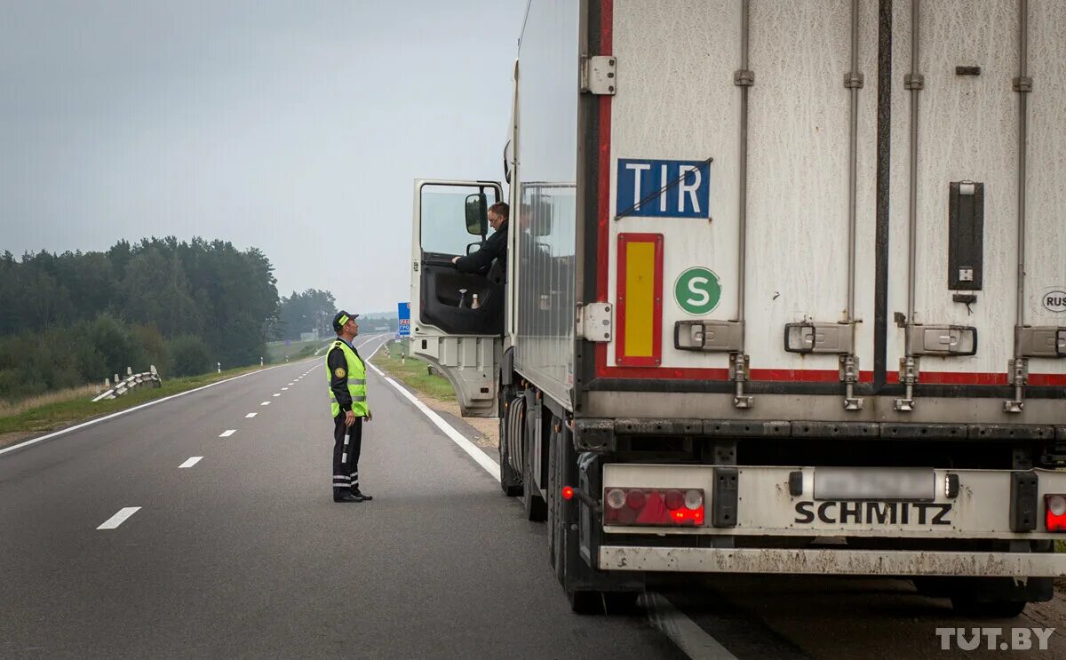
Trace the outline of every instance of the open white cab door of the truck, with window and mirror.
[[448, 377], [464, 417], [498, 414], [505, 283], [502, 263], [473, 274], [452, 260], [481, 248], [488, 207], [502, 199], [494, 181], [415, 181], [410, 354]]

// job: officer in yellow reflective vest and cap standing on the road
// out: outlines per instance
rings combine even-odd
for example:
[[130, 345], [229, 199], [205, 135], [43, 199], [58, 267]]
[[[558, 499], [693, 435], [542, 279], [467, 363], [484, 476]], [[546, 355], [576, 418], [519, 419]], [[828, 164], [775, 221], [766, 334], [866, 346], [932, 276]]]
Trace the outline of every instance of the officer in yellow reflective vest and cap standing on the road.
[[359, 334], [357, 313], [338, 311], [334, 317], [337, 341], [326, 353], [329, 370], [329, 407], [334, 418], [333, 484], [335, 502], [362, 502], [374, 498], [359, 490], [359, 450], [362, 418], [373, 419], [367, 405], [367, 368], [352, 345]]

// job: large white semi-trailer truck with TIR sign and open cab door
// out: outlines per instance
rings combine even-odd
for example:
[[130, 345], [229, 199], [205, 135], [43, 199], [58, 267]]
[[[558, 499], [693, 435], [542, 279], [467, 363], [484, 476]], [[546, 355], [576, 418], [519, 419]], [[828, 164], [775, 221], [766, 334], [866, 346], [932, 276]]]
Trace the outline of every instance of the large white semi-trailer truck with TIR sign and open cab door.
[[[663, 573], [1052, 597], [1066, 3], [967, 6], [530, 0], [504, 181], [415, 182], [409, 341], [500, 418], [576, 611]], [[461, 273], [501, 200], [505, 269]]]

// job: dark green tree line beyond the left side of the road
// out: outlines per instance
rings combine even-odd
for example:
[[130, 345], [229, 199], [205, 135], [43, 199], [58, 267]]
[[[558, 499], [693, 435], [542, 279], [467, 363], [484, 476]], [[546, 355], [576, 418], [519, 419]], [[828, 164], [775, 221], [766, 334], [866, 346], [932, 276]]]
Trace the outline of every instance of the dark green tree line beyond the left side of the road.
[[[290, 322], [279, 321], [292, 316], [293, 302], [306, 307], [305, 294], [278, 297], [273, 272], [256, 247], [201, 238], [154, 237], [106, 252], [43, 251], [21, 259], [5, 252], [0, 397], [98, 382], [127, 367], [156, 365], [167, 377], [204, 373], [215, 363], [258, 364], [269, 338], [288, 338]], [[332, 304], [328, 292], [310, 292]]]

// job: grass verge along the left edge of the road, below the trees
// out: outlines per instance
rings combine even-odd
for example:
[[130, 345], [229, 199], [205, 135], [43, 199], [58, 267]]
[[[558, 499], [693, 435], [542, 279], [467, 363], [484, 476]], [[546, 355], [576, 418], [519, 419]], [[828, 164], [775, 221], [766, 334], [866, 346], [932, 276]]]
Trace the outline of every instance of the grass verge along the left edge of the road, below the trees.
[[[94, 417], [125, 411], [126, 408], [147, 403], [154, 399], [162, 399], [163, 397], [177, 395], [217, 381], [230, 379], [235, 375], [258, 371], [259, 369], [261, 367], [256, 365], [254, 367], [229, 369], [222, 373], [205, 373], [184, 379], [164, 380], [162, 387], [139, 388], [117, 399], [108, 399], [98, 403], [90, 401], [95, 396], [95, 390], [84, 392], [83, 395], [80, 395], [79, 389], [68, 390], [65, 395], [56, 393], [59, 400], [46, 400], [39, 405], [31, 407], [22, 405], [12, 406], [10, 415], [0, 413], [0, 434], [54, 431], [55, 429], [85, 421]], [[67, 395], [69, 398], [67, 398]], [[0, 446], [3, 446], [3, 440], [0, 439]]]

